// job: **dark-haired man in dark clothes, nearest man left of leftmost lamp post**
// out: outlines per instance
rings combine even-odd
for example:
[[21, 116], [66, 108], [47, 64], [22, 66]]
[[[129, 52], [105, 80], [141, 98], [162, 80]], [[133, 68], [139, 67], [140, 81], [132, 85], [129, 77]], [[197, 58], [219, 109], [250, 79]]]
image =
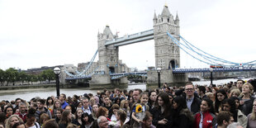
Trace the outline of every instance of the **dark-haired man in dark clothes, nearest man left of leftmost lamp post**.
[[52, 117], [51, 117], [51, 114], [50, 114], [50, 110], [48, 110], [48, 109], [45, 107], [45, 100], [39, 99], [39, 100], [37, 100], [36, 104], [37, 104], [37, 109], [36, 109], [35, 116], [36, 116], [36, 121], [37, 121], [37, 122], [39, 122], [39, 120], [40, 120], [40, 115], [41, 115], [42, 113], [46, 113], [46, 114], [49, 116], [50, 119], [52, 118]]

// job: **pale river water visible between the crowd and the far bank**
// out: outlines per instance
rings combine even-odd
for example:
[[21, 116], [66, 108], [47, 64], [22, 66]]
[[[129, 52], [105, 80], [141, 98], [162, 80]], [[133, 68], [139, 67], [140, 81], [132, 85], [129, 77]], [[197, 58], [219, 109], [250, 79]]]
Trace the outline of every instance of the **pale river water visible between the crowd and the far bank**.
[[[244, 78], [244, 80], [249, 80], [251, 78]], [[214, 80], [214, 84], [225, 84], [230, 83], [230, 81], [235, 82], [237, 79], [229, 78], [229, 79], [221, 79], [221, 80]], [[198, 85], [209, 85], [210, 81], [198, 81], [193, 82], [194, 84]], [[143, 91], [146, 90], [146, 84], [136, 84], [136, 85], [129, 85], [128, 88], [126, 88], [128, 91], [130, 89], [140, 88]], [[64, 93], [67, 95], [67, 97], [72, 97], [74, 94], [76, 95], [83, 95], [84, 93], [92, 93], [96, 94], [98, 90], [89, 90], [88, 88], [69, 88], [69, 89], [60, 89], [60, 93]], [[102, 90], [99, 90], [102, 91]], [[32, 97], [41, 97], [41, 98], [47, 98], [50, 96], [56, 96], [56, 88], [31, 88], [31, 89], [21, 89], [21, 90], [1, 90], [0, 91], [0, 101], [2, 100], [8, 100], [12, 101], [15, 100], [17, 97], [20, 97], [21, 99], [24, 99], [26, 101], [31, 100]]]

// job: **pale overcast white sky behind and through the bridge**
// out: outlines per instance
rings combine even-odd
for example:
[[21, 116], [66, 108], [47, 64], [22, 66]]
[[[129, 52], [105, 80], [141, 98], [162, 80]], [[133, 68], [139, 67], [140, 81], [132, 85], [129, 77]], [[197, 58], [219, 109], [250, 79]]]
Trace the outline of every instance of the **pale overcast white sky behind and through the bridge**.
[[[254, 0], [0, 0], [0, 69], [88, 62], [105, 26], [119, 37], [147, 31], [165, 4], [178, 13], [180, 35], [201, 50], [236, 63], [256, 59]], [[121, 46], [119, 59], [154, 66], [154, 40]], [[207, 66], [181, 50], [181, 68]]]

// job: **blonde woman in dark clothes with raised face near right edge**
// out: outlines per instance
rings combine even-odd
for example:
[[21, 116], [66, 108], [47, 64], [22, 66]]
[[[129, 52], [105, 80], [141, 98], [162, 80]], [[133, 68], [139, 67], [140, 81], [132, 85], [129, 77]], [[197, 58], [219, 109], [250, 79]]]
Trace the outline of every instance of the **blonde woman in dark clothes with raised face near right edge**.
[[242, 87], [242, 97], [240, 97], [240, 111], [248, 116], [253, 109], [254, 97], [251, 96], [254, 92], [254, 87], [251, 83], [244, 83]]

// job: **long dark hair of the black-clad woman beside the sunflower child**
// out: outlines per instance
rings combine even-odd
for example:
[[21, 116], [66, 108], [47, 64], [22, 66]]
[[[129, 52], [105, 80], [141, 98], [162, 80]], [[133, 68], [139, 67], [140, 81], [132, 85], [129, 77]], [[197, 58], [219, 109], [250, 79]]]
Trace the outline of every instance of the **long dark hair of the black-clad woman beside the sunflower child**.
[[[164, 101], [164, 117], [168, 117], [170, 115], [170, 108], [171, 108], [168, 93], [160, 92], [156, 99], [159, 100], [159, 97], [161, 97], [162, 100]], [[158, 109], [160, 108], [159, 102], [155, 102], [155, 107]]]

